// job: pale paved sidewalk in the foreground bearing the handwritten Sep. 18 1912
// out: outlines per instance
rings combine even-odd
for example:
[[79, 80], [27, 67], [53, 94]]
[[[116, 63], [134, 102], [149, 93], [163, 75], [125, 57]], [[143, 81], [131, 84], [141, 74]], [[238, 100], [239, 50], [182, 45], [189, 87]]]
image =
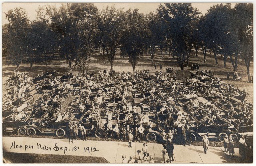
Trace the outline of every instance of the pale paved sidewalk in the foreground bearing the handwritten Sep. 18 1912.
[[[14, 143], [15, 141], [15, 143]], [[67, 139], [28, 138], [28, 137], [3, 137], [3, 151], [16, 153], [35, 154], [59, 154], [77, 156], [104, 157], [109, 163], [121, 163], [122, 155], [137, 154], [141, 150], [142, 143], [132, 143], [128, 148], [128, 142], [114, 141], [82, 141], [74, 140], [68, 143]], [[12, 146], [13, 145], [13, 146]], [[147, 143], [149, 154], [153, 156], [155, 163], [162, 161], [162, 144]], [[15, 146], [15, 147], [14, 147]], [[222, 147], [209, 147], [207, 154], [203, 153], [202, 146], [174, 145], [174, 158], [172, 163], [243, 163], [240, 161], [238, 148], [235, 155], [230, 157], [224, 153]]]

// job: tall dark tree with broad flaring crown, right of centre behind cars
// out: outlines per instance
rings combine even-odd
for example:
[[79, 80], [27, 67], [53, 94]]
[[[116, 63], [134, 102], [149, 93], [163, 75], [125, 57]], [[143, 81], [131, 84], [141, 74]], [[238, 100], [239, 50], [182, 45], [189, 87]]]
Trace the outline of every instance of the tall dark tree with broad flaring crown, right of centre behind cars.
[[168, 25], [165, 32], [171, 37], [173, 54], [178, 56], [177, 60], [183, 73], [192, 49], [192, 23], [198, 20], [200, 12], [193, 8], [191, 3], [165, 3], [165, 6], [160, 5], [157, 11]]

